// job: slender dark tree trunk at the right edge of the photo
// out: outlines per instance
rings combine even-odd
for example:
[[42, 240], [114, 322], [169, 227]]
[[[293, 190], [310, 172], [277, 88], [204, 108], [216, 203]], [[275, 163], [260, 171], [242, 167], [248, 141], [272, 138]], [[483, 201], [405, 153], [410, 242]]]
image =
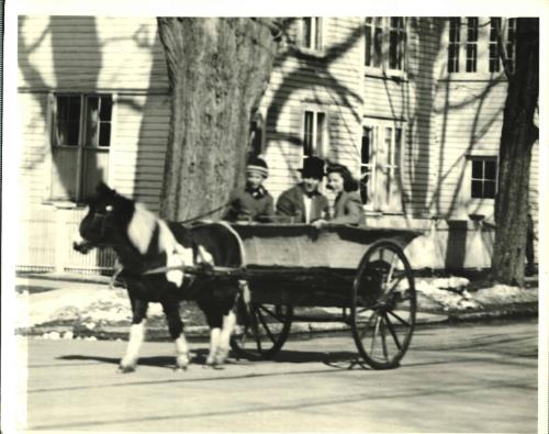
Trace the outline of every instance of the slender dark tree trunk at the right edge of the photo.
[[534, 112], [539, 94], [539, 20], [517, 19], [515, 73], [508, 77], [500, 144], [492, 278], [523, 285]]

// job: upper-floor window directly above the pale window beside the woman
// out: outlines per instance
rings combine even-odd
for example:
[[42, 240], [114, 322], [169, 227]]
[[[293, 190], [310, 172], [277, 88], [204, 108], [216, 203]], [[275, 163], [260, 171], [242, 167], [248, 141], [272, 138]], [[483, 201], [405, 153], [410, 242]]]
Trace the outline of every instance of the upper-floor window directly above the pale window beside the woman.
[[406, 22], [402, 16], [365, 19], [365, 66], [404, 70]]

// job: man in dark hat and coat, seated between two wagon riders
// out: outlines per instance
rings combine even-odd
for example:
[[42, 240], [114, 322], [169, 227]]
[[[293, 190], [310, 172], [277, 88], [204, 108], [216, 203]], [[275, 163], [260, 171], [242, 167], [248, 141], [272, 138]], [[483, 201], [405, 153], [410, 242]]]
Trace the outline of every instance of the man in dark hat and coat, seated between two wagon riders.
[[312, 223], [327, 219], [329, 205], [327, 198], [318, 191], [324, 177], [324, 160], [307, 157], [301, 169], [302, 181], [282, 192], [277, 201], [277, 214], [288, 218], [292, 223]]

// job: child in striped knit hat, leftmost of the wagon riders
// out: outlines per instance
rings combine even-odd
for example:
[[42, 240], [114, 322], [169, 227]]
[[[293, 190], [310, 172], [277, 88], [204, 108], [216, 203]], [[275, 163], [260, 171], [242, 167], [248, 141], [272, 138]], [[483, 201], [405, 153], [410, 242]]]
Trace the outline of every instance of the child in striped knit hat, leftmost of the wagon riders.
[[229, 221], [269, 222], [274, 214], [272, 196], [264, 187], [269, 176], [267, 163], [259, 157], [250, 157], [246, 165], [246, 187], [233, 193], [231, 209], [226, 215]]

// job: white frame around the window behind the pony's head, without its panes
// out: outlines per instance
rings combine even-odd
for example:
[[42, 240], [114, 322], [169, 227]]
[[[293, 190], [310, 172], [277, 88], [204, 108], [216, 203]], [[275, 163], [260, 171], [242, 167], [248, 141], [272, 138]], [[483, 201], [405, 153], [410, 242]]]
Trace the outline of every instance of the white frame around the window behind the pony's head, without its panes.
[[[67, 145], [57, 145], [55, 144], [55, 129], [56, 129], [56, 116], [57, 116], [57, 98], [58, 97], [79, 97], [80, 98], [80, 115], [79, 115], [79, 132], [78, 132], [78, 144], [77, 146], [67, 146]], [[87, 107], [87, 98], [89, 97], [111, 97], [111, 133], [110, 133], [110, 140], [109, 140], [109, 146], [86, 146], [83, 144], [85, 142], [85, 134], [86, 134], [86, 116], [88, 112], [88, 107]], [[109, 92], [75, 92], [75, 91], [49, 91], [47, 93], [47, 122], [46, 122], [46, 143], [47, 143], [47, 149], [46, 149], [46, 156], [44, 159], [44, 170], [46, 171], [44, 175], [44, 179], [46, 180], [45, 186], [44, 186], [44, 198], [43, 198], [43, 203], [46, 204], [54, 204], [54, 205], [60, 205], [60, 207], [79, 207], [82, 204], [82, 200], [85, 199], [82, 197], [82, 166], [83, 166], [83, 153], [85, 149], [94, 149], [97, 153], [108, 153], [109, 154], [109, 165], [108, 165], [108, 170], [105, 174], [105, 182], [110, 182], [110, 180], [113, 178], [113, 165], [111, 164], [112, 162], [112, 155], [113, 155], [113, 137], [116, 135], [116, 122], [115, 120], [117, 119], [116, 113], [117, 113], [117, 93], [109, 93]], [[98, 136], [99, 141], [99, 136]], [[53, 170], [54, 170], [54, 148], [77, 148], [77, 167], [76, 167], [76, 175], [75, 175], [75, 182], [76, 182], [76, 188], [75, 188], [75, 198], [67, 198], [67, 199], [56, 199], [52, 198], [53, 194]]]

